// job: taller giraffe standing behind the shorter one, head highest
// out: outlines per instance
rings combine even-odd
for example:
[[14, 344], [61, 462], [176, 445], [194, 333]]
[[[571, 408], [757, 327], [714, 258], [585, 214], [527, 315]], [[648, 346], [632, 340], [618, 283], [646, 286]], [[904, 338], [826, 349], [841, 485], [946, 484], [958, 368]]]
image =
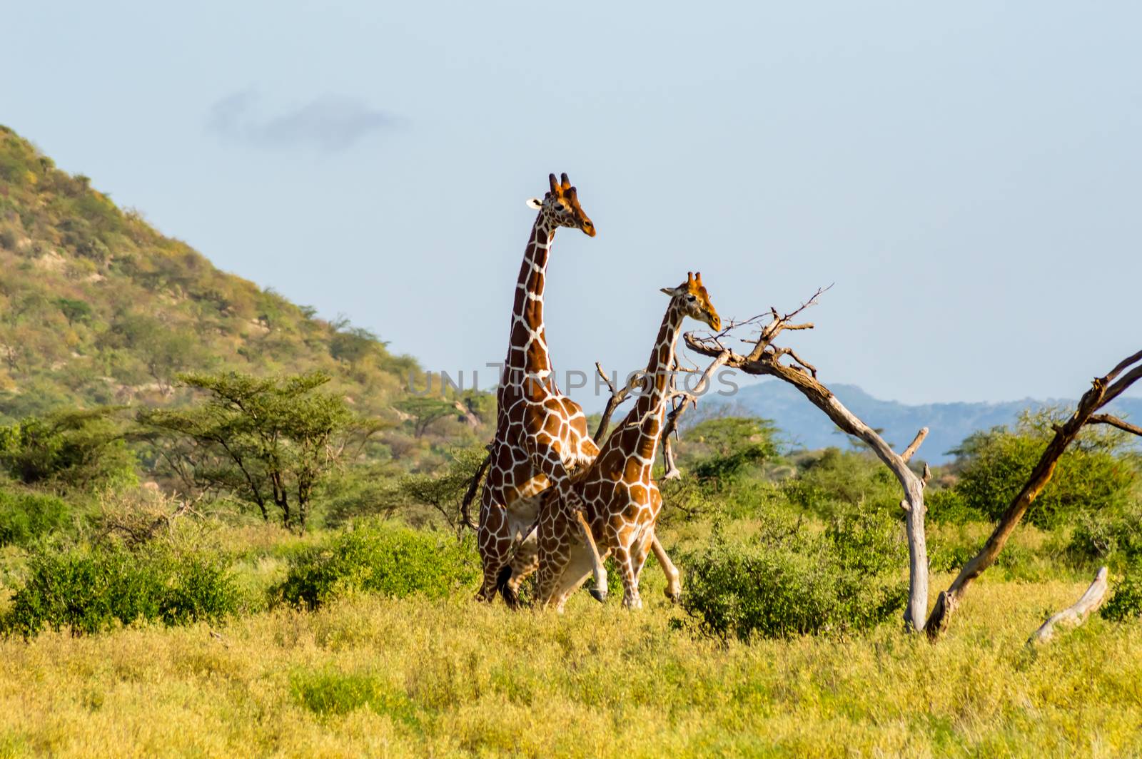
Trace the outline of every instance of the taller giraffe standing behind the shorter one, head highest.
[[[561, 494], [558, 502], [568, 509], [569, 522], [579, 525], [588, 550], [595, 552], [570, 486], [571, 471], [590, 463], [598, 446], [587, 433], [582, 409], [555, 383], [544, 329], [544, 284], [555, 231], [572, 227], [594, 237], [595, 226], [580, 208], [565, 173], [561, 181], [554, 173], [548, 180], [550, 189], [544, 199], [528, 202], [539, 213], [520, 267], [510, 340], [496, 395], [496, 437], [481, 494], [477, 540], [484, 568], [480, 597], [485, 600], [494, 598], [497, 576], [512, 557], [513, 544], [531, 527], [538, 495], [548, 487]], [[533, 544], [530, 550], [534, 550]], [[593, 565], [596, 589], [602, 589], [596, 590], [596, 598], [602, 600], [606, 574], [597, 552]]]

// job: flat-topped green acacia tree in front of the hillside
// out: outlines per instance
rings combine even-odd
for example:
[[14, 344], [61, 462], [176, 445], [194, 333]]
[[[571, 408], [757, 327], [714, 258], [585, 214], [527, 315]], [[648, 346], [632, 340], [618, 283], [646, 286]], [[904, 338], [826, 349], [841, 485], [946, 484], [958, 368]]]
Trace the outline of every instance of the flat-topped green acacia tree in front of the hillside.
[[320, 391], [328, 374], [259, 379], [235, 372], [183, 374], [206, 394], [178, 410], [147, 409], [138, 421], [155, 455], [187, 490], [225, 493], [276, 508], [287, 527], [304, 528], [313, 490], [354, 442], [376, 430], [338, 394]]

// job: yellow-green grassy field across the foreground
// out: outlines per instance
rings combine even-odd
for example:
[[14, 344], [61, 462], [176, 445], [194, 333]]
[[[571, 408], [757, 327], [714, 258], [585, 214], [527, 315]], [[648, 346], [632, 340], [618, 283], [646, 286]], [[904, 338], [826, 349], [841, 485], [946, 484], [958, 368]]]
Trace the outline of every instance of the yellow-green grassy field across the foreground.
[[894, 625], [723, 645], [679, 629], [657, 567], [643, 586], [636, 613], [353, 596], [0, 640], [0, 756], [1142, 753], [1142, 629], [1024, 648], [1084, 582], [986, 579], [936, 645]]

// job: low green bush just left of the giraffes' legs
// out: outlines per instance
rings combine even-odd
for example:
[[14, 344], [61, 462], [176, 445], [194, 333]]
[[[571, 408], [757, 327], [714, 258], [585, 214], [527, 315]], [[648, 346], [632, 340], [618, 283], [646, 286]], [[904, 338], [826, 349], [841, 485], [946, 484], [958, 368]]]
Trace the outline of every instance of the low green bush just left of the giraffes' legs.
[[316, 608], [352, 591], [440, 598], [474, 588], [480, 560], [471, 541], [385, 523], [369, 523], [291, 559], [273, 601]]

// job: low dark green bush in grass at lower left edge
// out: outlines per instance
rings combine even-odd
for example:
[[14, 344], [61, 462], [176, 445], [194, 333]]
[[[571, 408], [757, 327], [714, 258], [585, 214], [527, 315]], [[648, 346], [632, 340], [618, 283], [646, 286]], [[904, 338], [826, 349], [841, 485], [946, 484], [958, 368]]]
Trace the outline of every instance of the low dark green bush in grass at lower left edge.
[[238, 591], [220, 557], [152, 549], [43, 551], [2, 619], [25, 638], [45, 627], [94, 635], [116, 624], [218, 621], [238, 609]]

